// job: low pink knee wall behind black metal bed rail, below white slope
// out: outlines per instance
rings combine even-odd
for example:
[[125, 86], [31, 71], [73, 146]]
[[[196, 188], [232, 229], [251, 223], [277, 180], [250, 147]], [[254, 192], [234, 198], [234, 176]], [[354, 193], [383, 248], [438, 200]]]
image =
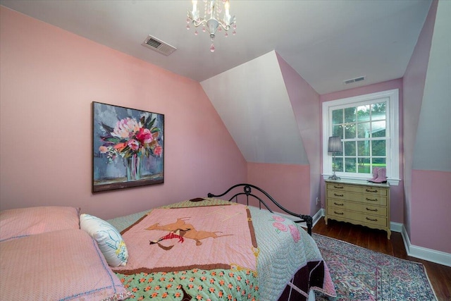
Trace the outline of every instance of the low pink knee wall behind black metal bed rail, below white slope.
[[[247, 164], [247, 182], [263, 188], [288, 210], [308, 214], [310, 171], [308, 165], [298, 164]], [[279, 211], [271, 207], [274, 211]]]

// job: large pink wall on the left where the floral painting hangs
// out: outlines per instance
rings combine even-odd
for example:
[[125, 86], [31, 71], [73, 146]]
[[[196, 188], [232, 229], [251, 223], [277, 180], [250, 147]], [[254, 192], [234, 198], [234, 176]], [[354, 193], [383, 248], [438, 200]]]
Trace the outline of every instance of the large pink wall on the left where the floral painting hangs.
[[[245, 159], [198, 82], [0, 13], [0, 209], [74, 206], [109, 219], [245, 181]], [[165, 114], [164, 184], [92, 195], [93, 101]]]

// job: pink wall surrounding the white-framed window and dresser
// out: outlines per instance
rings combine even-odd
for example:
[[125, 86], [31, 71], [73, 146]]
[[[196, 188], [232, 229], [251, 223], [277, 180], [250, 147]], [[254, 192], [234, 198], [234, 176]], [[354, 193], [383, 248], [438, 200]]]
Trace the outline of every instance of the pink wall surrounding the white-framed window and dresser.
[[[354, 97], [363, 94], [370, 94], [375, 92], [381, 92], [385, 90], [400, 90], [400, 183], [397, 186], [392, 186], [390, 188], [390, 219], [396, 223], [404, 223], [404, 181], [403, 178], [403, 147], [402, 147], [402, 137], [403, 137], [403, 128], [402, 128], [402, 105], [403, 105], [403, 94], [402, 94], [402, 79], [397, 80], [389, 80], [387, 82], [381, 82], [374, 85], [368, 85], [364, 87], [357, 87], [354, 89], [333, 92], [329, 94], [321, 95], [321, 103], [328, 102], [334, 99], [342, 99], [347, 97]], [[324, 182], [322, 183], [322, 195], [321, 200], [324, 202]]]

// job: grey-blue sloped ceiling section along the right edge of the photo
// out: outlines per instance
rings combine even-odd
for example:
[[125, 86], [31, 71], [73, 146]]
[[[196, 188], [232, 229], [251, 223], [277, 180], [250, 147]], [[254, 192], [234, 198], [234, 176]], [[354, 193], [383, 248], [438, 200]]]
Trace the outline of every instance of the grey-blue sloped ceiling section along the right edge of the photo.
[[451, 171], [451, 1], [438, 1], [413, 168]]

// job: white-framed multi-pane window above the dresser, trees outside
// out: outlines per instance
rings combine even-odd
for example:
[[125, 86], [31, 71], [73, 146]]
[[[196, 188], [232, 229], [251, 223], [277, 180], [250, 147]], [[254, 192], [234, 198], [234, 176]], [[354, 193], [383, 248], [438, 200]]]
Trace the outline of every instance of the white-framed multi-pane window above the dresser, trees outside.
[[[374, 167], [386, 168], [388, 181], [399, 182], [398, 90], [323, 102], [323, 176], [368, 179]], [[327, 152], [328, 137], [342, 140], [343, 152]]]

